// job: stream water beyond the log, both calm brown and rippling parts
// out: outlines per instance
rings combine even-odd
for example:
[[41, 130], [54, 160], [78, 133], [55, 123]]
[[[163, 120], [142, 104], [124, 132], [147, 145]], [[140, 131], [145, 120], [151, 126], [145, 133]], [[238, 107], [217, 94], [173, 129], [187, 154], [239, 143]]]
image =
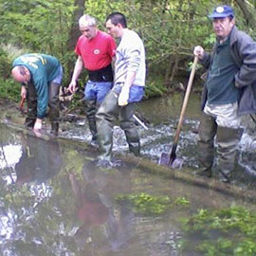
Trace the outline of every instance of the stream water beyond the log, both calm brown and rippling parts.
[[[175, 128], [179, 119], [183, 94], [172, 97], [142, 101], [137, 107], [137, 116], [148, 130], [137, 126], [141, 154], [155, 162], [162, 153], [170, 153], [173, 146]], [[188, 102], [182, 132], [180, 133], [176, 155], [183, 160], [183, 166], [195, 171], [198, 168], [197, 128], [200, 119], [200, 94], [192, 93]], [[256, 124], [249, 116], [243, 117], [244, 135], [239, 144], [238, 159], [234, 171], [234, 182], [242, 187], [255, 187], [256, 182]], [[90, 133], [85, 119], [79, 119], [66, 128], [63, 137], [90, 141]], [[119, 126], [114, 130], [114, 153], [128, 153], [128, 145]], [[213, 168], [214, 170], [214, 168]], [[214, 173], [215, 170], [214, 170]]]

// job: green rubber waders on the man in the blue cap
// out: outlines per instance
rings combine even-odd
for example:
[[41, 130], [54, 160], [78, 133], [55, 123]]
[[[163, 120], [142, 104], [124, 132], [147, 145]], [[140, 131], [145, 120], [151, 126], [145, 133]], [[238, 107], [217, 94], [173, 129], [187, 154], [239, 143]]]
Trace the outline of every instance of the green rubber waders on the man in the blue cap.
[[214, 159], [214, 137], [217, 139], [217, 171], [221, 181], [229, 182], [234, 168], [237, 145], [243, 135], [241, 128], [218, 126], [215, 119], [202, 114], [199, 125], [199, 164], [197, 174], [211, 176]]

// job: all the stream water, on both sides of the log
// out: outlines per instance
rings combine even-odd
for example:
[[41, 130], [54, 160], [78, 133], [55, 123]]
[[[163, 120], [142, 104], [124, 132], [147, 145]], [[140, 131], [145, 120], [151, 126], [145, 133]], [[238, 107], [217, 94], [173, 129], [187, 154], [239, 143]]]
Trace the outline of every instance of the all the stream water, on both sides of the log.
[[[177, 149], [178, 157], [191, 170], [198, 164], [198, 100], [198, 95], [192, 95]], [[138, 111], [148, 120], [149, 128], [138, 127], [144, 157], [156, 162], [162, 152], [170, 151], [181, 101], [181, 95], [176, 95], [140, 104]], [[4, 111], [8, 123], [24, 119], [12, 115], [15, 111]], [[240, 185], [254, 189], [255, 127], [250, 119], [244, 119], [244, 123], [235, 175]], [[181, 217], [191, 216], [198, 209], [230, 205], [255, 211], [254, 204], [144, 173], [129, 162], [113, 170], [99, 169], [94, 163], [98, 152], [84, 143], [90, 141], [86, 121], [65, 122], [61, 128], [61, 137], [70, 137], [73, 142], [33, 137], [21, 129], [0, 125], [0, 255], [202, 255], [181, 252], [185, 239]], [[114, 152], [128, 152], [118, 126]], [[117, 200], [121, 195], [141, 192], [169, 196], [170, 209], [148, 215]], [[178, 198], [190, 204], [172, 207]], [[194, 237], [188, 234], [186, 239], [188, 244], [194, 243]]]

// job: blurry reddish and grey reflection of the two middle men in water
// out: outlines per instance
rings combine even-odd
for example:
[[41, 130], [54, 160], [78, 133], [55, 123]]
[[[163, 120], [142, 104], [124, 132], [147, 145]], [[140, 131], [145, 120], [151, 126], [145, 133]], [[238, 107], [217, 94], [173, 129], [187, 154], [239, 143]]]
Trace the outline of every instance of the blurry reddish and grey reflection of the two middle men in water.
[[[121, 180], [122, 192], [131, 191], [129, 175], [107, 174], [90, 161], [83, 165], [82, 180], [69, 173], [76, 198], [76, 218], [82, 223], [74, 234], [86, 255], [97, 251], [120, 251], [128, 247], [134, 213], [126, 206], [115, 205], [115, 193]], [[117, 180], [116, 180], [117, 181]]]

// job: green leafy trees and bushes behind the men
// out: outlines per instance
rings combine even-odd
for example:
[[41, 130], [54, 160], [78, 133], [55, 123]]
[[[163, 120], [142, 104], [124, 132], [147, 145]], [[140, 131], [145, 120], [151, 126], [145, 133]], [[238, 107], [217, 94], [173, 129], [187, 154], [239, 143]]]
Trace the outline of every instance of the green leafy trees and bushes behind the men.
[[[69, 42], [77, 40], [70, 37], [75, 3], [77, 1], [74, 0], [0, 0], [0, 44], [11, 46], [7, 50], [8, 63], [17, 57], [18, 51], [12, 52], [14, 48], [22, 53], [54, 55], [64, 65], [64, 85], [67, 85], [76, 61], [74, 50], [68, 48]], [[219, 3], [210, 0], [88, 0], [84, 4], [84, 12], [95, 16], [103, 30], [109, 13], [120, 11], [126, 15], [128, 27], [138, 32], [146, 48], [146, 97], [149, 98], [166, 93], [176, 60], [179, 60], [177, 71], [189, 71], [187, 64], [192, 59], [193, 46], [211, 49], [215, 35], [208, 14]], [[245, 5], [254, 15], [255, 3], [246, 1]], [[242, 8], [237, 5], [234, 9], [238, 27], [255, 37], [256, 29], [251, 24], [247, 25]], [[161, 83], [158, 82], [159, 77]], [[82, 75], [81, 78], [85, 82], [86, 77]]]

